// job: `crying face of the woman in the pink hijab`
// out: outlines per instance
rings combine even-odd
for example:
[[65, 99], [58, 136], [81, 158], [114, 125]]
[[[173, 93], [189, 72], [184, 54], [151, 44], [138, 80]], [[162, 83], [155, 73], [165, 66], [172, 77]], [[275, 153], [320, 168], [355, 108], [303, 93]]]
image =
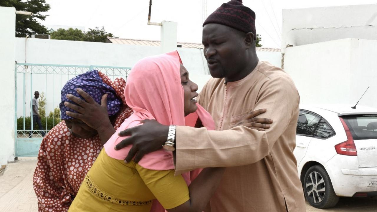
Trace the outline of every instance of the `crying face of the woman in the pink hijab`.
[[198, 96], [198, 85], [189, 79], [189, 72], [181, 64], [181, 69], [179, 69], [179, 74], [181, 75], [181, 84], [184, 91], [184, 112], [185, 116], [193, 113], [198, 109], [196, 106], [196, 98]]

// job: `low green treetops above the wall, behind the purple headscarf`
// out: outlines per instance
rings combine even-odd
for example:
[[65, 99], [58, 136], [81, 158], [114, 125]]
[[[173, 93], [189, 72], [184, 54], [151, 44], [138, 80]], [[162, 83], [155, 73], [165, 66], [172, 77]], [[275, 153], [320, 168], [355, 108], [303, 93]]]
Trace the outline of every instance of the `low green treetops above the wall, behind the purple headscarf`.
[[96, 27], [90, 29], [87, 32], [83, 32], [80, 29], [58, 29], [55, 32], [51, 32], [51, 39], [56, 40], [77, 40], [77, 41], [90, 41], [90, 42], [106, 42], [107, 36], [113, 37], [113, 34], [106, 32], [104, 27], [101, 29]]

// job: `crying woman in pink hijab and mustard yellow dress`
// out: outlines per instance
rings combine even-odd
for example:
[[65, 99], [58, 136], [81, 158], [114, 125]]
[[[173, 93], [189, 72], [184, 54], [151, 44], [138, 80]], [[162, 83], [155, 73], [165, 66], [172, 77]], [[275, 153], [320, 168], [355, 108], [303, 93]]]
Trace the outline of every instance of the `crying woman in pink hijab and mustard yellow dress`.
[[192, 121], [185, 120], [190, 114], [214, 130], [210, 114], [196, 103], [197, 89], [177, 51], [136, 63], [124, 90], [133, 114], [104, 144], [68, 211], [149, 212], [153, 200], [168, 212], [202, 211], [224, 168], [205, 168], [191, 182], [190, 173], [175, 176], [172, 151], [160, 149], [145, 155], [139, 163], [124, 163], [132, 146], [114, 150], [126, 138], [118, 132], [138, 126], [145, 119], [166, 125], [192, 125]]

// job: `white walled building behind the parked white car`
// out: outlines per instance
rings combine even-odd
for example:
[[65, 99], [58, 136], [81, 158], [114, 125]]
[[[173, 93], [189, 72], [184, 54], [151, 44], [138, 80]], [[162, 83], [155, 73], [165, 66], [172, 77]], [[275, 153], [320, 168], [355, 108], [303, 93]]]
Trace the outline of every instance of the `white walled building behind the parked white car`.
[[377, 108], [377, 4], [284, 9], [282, 66], [301, 103]]

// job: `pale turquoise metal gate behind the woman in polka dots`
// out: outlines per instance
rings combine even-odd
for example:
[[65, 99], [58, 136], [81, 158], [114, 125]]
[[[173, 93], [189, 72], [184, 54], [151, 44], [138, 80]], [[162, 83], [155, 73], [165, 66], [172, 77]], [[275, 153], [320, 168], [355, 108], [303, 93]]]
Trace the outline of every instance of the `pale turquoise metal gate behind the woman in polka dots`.
[[[93, 69], [101, 71], [112, 80], [123, 77], [126, 81], [131, 70], [129, 67], [115, 66], [15, 64], [15, 157], [37, 156], [42, 135], [61, 121], [58, 109], [61, 88], [69, 79]], [[35, 126], [31, 115], [34, 91], [39, 91], [40, 103], [45, 100], [44, 107], [40, 105], [38, 109], [40, 115], [43, 115], [43, 129]]]

